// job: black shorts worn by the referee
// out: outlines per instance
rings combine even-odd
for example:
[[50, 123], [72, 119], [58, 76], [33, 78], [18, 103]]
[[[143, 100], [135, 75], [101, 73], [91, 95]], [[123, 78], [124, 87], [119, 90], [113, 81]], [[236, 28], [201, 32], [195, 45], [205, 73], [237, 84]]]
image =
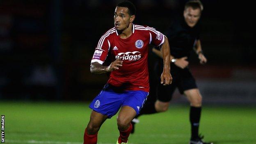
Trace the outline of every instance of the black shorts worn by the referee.
[[162, 74], [162, 70], [162, 62], [157, 62], [154, 67], [156, 85], [155, 87], [151, 87], [151, 89], [155, 89], [154, 92], [159, 101], [171, 101], [172, 95], [176, 87], [178, 87], [178, 90], [180, 91], [181, 94], [183, 94], [185, 90], [197, 88], [196, 81], [188, 68], [181, 69], [176, 65], [171, 64], [171, 76], [173, 79], [171, 85], [167, 86], [164, 86], [160, 83], [160, 76]]

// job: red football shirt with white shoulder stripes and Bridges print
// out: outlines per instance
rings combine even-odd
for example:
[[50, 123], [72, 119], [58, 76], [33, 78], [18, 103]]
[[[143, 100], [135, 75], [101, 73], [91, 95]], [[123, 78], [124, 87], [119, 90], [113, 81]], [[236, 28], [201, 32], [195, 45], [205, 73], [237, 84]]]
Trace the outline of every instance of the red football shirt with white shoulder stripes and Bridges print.
[[92, 62], [103, 64], [107, 57], [112, 62], [121, 58], [123, 66], [110, 73], [107, 81], [115, 87], [124, 86], [126, 90], [149, 92], [148, 48], [149, 44], [160, 46], [164, 35], [152, 27], [133, 25], [133, 33], [127, 39], [121, 39], [113, 27], [99, 40]]

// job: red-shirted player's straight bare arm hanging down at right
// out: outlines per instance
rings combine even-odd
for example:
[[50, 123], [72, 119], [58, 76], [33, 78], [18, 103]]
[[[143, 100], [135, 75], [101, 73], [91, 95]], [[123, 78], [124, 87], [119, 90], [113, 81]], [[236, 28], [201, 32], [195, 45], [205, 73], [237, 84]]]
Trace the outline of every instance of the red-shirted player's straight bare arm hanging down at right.
[[169, 46], [169, 41], [167, 37], [165, 37], [165, 42], [162, 44], [161, 53], [162, 53], [162, 58], [164, 60], [164, 69], [161, 75], [161, 84], [164, 85], [170, 85], [172, 78], [171, 78], [171, 73], [170, 73], [170, 46]]

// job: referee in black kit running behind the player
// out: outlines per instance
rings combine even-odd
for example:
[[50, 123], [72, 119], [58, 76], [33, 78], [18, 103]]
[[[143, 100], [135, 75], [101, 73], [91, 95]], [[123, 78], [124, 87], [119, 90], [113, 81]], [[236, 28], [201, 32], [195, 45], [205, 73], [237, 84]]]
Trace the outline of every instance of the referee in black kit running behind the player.
[[[191, 123], [191, 138], [190, 144], [213, 144], [203, 142], [203, 136], [199, 135], [199, 121], [201, 116], [202, 96], [197, 88], [195, 79], [188, 68], [189, 57], [194, 50], [201, 64], [207, 62], [201, 48], [199, 38], [200, 25], [198, 21], [203, 10], [203, 5], [199, 0], [190, 0], [185, 4], [183, 18], [178, 18], [174, 21], [169, 29], [165, 32], [170, 43], [171, 51], [171, 75], [173, 77], [171, 85], [163, 86], [158, 80], [156, 87], [156, 102], [146, 102], [140, 111], [142, 114], [153, 114], [156, 112], [164, 112], [168, 109], [172, 95], [176, 88], [181, 94], [185, 94], [190, 101], [190, 123]], [[157, 48], [152, 49], [153, 53], [159, 57], [159, 61], [155, 64], [155, 74], [161, 75], [162, 54]], [[151, 87], [154, 89], [155, 87]], [[139, 116], [137, 116], [139, 117]], [[137, 117], [133, 120], [133, 124], [138, 122]], [[134, 129], [133, 129], [134, 132]], [[132, 132], [132, 133], [133, 133]]]

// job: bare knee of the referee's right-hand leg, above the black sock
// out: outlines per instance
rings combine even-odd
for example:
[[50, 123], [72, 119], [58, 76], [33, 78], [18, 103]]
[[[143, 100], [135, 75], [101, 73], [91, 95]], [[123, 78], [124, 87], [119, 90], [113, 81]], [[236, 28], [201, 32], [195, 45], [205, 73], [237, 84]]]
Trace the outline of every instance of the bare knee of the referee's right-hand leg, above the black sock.
[[190, 105], [200, 107], [202, 104], [202, 96], [199, 89], [188, 89], [184, 91], [185, 96], [190, 101]]

